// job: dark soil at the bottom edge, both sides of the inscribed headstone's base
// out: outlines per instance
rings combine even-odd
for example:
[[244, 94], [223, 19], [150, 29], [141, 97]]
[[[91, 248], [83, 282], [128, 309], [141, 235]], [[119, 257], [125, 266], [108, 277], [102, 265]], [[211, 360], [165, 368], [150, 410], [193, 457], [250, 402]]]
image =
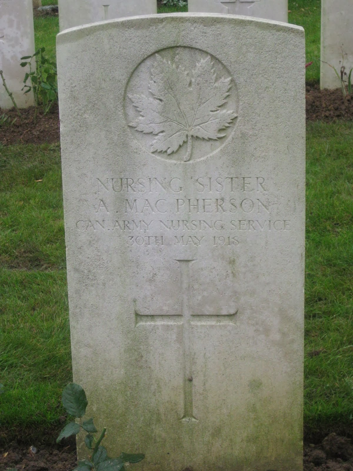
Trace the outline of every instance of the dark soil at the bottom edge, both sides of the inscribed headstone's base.
[[[43, 446], [34, 451], [16, 444], [0, 449], [0, 470], [72, 471], [76, 466], [73, 445]], [[303, 464], [304, 471], [353, 471], [351, 441], [331, 433], [320, 445], [305, 444]]]

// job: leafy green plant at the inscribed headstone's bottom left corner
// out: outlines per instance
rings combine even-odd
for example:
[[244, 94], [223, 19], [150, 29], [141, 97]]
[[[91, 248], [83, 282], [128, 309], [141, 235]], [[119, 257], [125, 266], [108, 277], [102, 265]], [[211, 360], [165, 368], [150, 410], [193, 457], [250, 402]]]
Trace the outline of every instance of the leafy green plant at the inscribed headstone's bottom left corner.
[[93, 419], [82, 421], [82, 417], [86, 413], [88, 401], [86, 393], [81, 386], [76, 383], [69, 383], [63, 391], [63, 406], [68, 414], [73, 415], [78, 422], [69, 422], [61, 430], [56, 442], [61, 439], [77, 435], [79, 431], [85, 430], [88, 432], [85, 438], [85, 445], [88, 450], [91, 450], [89, 460], [80, 461], [73, 471], [125, 471], [125, 463], [138, 463], [144, 459], [143, 454], [132, 455], [129, 453], [121, 453], [119, 458], [109, 458], [106, 448], [101, 445], [105, 437], [106, 428], [104, 427], [99, 438], [93, 435], [97, 429], [93, 423]]

